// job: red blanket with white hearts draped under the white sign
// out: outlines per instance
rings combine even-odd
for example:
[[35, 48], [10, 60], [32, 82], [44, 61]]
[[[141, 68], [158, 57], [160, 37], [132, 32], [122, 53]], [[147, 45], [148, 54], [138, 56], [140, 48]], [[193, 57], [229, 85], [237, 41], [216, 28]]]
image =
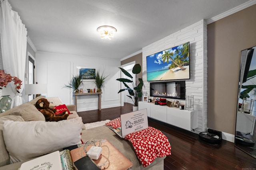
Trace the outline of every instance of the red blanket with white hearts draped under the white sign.
[[[120, 117], [106, 123], [106, 125], [113, 125], [113, 128], [120, 127]], [[125, 139], [132, 143], [135, 153], [144, 167], [150, 165], [156, 157], [164, 157], [171, 154], [172, 148], [168, 138], [154, 127], [130, 133], [126, 135]]]

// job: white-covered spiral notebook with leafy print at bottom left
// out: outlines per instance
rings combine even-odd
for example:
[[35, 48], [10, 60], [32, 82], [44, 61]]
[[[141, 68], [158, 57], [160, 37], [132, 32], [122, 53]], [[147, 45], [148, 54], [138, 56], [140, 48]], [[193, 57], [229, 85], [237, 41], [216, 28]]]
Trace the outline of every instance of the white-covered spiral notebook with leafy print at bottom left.
[[75, 170], [68, 149], [55, 151], [21, 164], [19, 170]]

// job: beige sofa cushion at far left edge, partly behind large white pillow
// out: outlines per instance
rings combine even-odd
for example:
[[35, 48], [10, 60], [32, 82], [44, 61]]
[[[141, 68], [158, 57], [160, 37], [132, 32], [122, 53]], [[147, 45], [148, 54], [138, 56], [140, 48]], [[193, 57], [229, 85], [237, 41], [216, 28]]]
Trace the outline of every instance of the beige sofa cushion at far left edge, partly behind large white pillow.
[[24, 121], [21, 116], [15, 115], [6, 115], [0, 117], [0, 166], [10, 164], [10, 157], [8, 151], [6, 150], [6, 146], [4, 144], [4, 137], [3, 137], [3, 121], [6, 120], [13, 120], [13, 121]]

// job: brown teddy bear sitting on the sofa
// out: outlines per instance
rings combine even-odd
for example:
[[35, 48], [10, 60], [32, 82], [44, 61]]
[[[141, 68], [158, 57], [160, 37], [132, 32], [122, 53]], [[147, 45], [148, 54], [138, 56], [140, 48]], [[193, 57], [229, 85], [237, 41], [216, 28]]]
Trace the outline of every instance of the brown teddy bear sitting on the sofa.
[[50, 103], [46, 98], [39, 99], [35, 106], [44, 115], [45, 121], [61, 121], [68, 118], [68, 112], [63, 111], [60, 114], [56, 114], [56, 109], [53, 109], [54, 104]]

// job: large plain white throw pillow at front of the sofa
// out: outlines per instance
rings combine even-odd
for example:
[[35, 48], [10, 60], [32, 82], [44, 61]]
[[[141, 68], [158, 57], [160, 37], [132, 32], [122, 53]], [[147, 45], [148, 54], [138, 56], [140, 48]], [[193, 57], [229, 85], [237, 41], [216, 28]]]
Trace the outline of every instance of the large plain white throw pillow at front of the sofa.
[[4, 121], [3, 136], [10, 162], [20, 162], [81, 144], [82, 118], [46, 121]]

